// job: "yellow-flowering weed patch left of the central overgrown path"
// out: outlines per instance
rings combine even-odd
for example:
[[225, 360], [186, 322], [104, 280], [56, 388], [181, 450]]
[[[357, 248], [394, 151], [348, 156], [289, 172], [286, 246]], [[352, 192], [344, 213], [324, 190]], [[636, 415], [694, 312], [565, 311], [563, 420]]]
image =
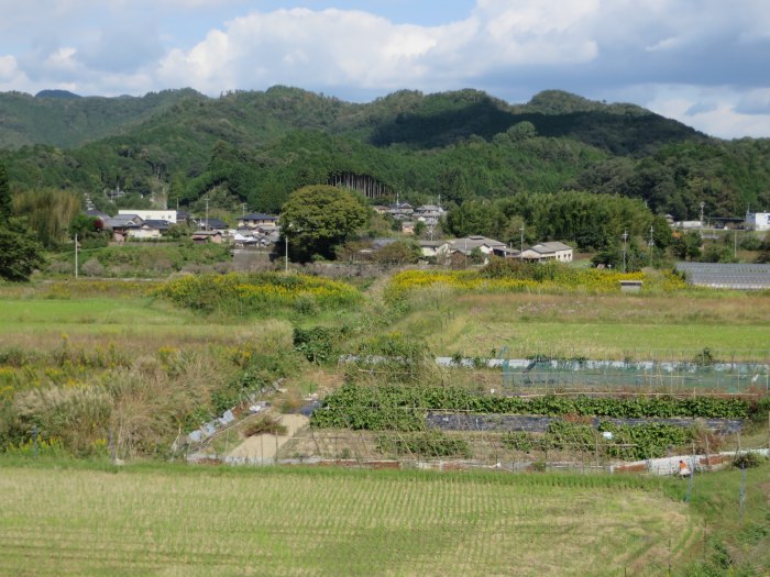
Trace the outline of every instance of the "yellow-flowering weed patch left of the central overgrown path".
[[165, 282], [157, 293], [180, 307], [231, 315], [307, 314], [351, 307], [362, 298], [345, 282], [280, 273], [189, 275]]

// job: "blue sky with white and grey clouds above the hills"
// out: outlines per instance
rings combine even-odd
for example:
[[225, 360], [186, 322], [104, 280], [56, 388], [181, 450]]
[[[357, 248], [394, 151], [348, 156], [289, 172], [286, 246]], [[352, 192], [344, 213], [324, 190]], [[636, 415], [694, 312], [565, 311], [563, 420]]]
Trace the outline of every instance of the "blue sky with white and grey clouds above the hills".
[[770, 137], [767, 0], [0, 0], [0, 91], [559, 89]]

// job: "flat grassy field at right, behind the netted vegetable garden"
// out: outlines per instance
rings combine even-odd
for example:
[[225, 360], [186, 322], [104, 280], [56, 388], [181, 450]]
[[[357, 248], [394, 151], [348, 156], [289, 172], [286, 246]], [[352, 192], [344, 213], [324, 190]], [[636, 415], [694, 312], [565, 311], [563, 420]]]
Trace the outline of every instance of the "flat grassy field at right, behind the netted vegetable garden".
[[768, 295], [424, 296], [396, 329], [438, 355], [532, 354], [597, 359], [691, 359], [711, 348], [767, 360]]

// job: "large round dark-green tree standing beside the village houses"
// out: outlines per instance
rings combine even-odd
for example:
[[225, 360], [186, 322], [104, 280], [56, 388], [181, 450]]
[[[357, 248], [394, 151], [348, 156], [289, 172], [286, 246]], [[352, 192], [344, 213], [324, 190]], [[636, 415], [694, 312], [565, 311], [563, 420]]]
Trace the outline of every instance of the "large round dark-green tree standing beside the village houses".
[[311, 185], [295, 190], [280, 210], [280, 234], [289, 253], [306, 262], [334, 257], [369, 219], [370, 210], [356, 193], [343, 188]]

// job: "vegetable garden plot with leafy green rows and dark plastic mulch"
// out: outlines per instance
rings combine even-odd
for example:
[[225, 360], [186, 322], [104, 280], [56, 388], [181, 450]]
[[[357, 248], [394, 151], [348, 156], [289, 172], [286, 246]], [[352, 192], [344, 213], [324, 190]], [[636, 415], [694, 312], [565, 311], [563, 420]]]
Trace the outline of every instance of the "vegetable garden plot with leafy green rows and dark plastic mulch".
[[[745, 419], [767, 419], [763, 403], [748, 397], [517, 397], [458, 387], [348, 384], [324, 399], [311, 425], [346, 430], [350, 439], [356, 431], [376, 432], [342, 445], [339, 440], [345, 435], [337, 433], [336, 448], [343, 446], [356, 458], [372, 458], [378, 451], [396, 459], [450, 458], [501, 466], [540, 455], [544, 461], [548, 455], [584, 467], [586, 459], [598, 466], [600, 458], [646, 459], [676, 447], [685, 453], [695, 445], [704, 452], [715, 450], [724, 441], [714, 431], [736, 432]], [[312, 441], [321, 446], [318, 439]], [[323, 456], [329, 456], [329, 443], [323, 445]], [[331, 456], [340, 458], [341, 453]]]

